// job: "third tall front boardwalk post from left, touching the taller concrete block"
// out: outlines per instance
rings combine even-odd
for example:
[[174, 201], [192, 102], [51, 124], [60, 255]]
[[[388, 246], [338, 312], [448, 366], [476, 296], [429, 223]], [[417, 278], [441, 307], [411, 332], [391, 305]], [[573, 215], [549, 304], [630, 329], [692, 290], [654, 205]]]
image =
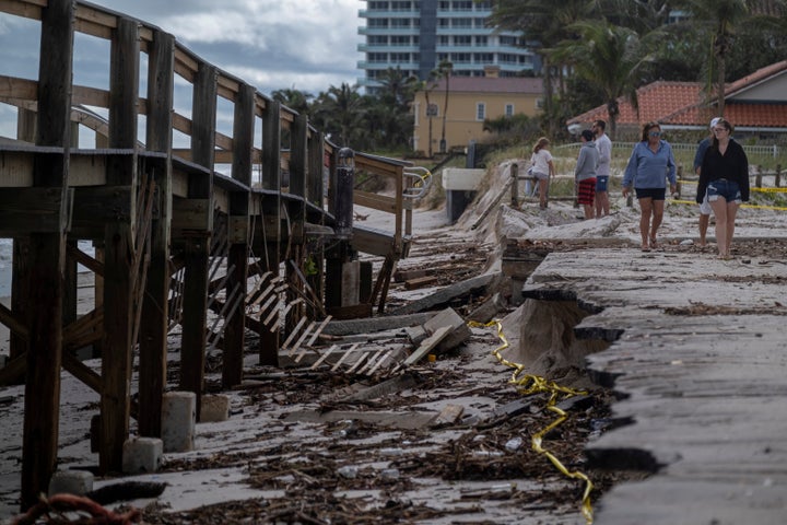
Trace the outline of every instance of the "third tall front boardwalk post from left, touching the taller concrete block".
[[156, 209], [151, 226], [151, 258], [142, 300], [139, 337], [139, 432], [161, 438], [162, 397], [166, 387], [169, 294], [169, 226], [172, 220], [172, 110], [175, 37], [153, 32], [148, 63], [149, 151], [166, 153], [165, 162], [146, 166], [156, 185]]

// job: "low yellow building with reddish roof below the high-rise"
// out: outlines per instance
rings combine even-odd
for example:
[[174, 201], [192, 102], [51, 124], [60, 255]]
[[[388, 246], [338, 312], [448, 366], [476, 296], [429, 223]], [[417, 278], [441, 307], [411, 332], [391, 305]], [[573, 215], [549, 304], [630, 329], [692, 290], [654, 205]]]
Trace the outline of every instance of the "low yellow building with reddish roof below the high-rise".
[[[535, 116], [541, 112], [543, 100], [542, 80], [535, 78], [451, 77], [447, 90], [446, 79], [428, 85], [431, 89], [419, 91], [413, 101], [413, 150], [427, 155], [463, 148], [471, 140], [481, 142], [488, 135], [483, 130], [485, 119]], [[441, 148], [444, 138], [445, 148]]]

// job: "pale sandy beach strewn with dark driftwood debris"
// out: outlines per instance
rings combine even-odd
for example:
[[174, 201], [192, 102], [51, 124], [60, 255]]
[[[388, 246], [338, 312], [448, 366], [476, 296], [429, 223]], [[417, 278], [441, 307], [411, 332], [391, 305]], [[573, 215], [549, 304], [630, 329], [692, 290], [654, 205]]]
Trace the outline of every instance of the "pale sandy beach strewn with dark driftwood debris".
[[[590, 221], [577, 220], [578, 210], [569, 202], [552, 202], [543, 211], [538, 210], [537, 203], [529, 202], [521, 209], [513, 209], [492, 202], [506, 177], [504, 165], [492, 174], [490, 188], [479, 196], [456, 224], [448, 224], [445, 209], [415, 210], [415, 241], [411, 257], [402, 260], [399, 269], [424, 268], [441, 261], [457, 262], [462, 258], [478, 260], [481, 254], [483, 264], [471, 262], [477, 266], [475, 273], [495, 272], [501, 262], [500, 248], [506, 238], [544, 245], [561, 245], [571, 241], [574, 246], [584, 245], [588, 249], [596, 244], [630, 243], [633, 254], [636, 252], [638, 255], [638, 212], [626, 208], [622, 198], [613, 199], [611, 215]], [[489, 207], [494, 207], [494, 211], [482, 224], [472, 229], [471, 225]], [[703, 258], [715, 255], [713, 245], [705, 249], [695, 245], [697, 213], [696, 205], [691, 201], [668, 201], [661, 243], [667, 252], [696, 254], [697, 264], [702, 264]], [[365, 211], [359, 211], [359, 214], [365, 217], [363, 222], [368, 226], [386, 225], [384, 217], [366, 214]], [[736, 232], [741, 243], [733, 244], [733, 256], [738, 260], [764, 256], [764, 252], [754, 253], [756, 244], [749, 241], [755, 238], [776, 240], [784, 249], [785, 226], [787, 213], [784, 211], [741, 209]], [[713, 235], [713, 225], [709, 234]], [[475, 258], [471, 259], [471, 256]], [[91, 288], [89, 278], [84, 279], [80, 283], [80, 308], [86, 312], [91, 306]], [[404, 304], [434, 293], [438, 288], [407, 290], [402, 284], [393, 283], [389, 302]], [[520, 323], [518, 312], [515, 305], [500, 312], [503, 319], [501, 327], [510, 345], [512, 355], [516, 355]], [[373, 340], [372, 345], [399, 346], [406, 350], [412, 348], [399, 329], [361, 337]], [[7, 340], [8, 335], [0, 334], [0, 345], [7, 347]], [[484, 421], [502, 407], [521, 399], [508, 384], [510, 370], [494, 357], [494, 350], [500, 346], [501, 340], [494, 330], [475, 327], [471, 339], [459, 352], [416, 369], [416, 384], [402, 386], [393, 399], [384, 397], [365, 406], [341, 400], [349, 392], [367, 386], [368, 377], [344, 373], [317, 374], [307, 366], [296, 366], [282, 373], [259, 366], [254, 352], [246, 358], [245, 374], [257, 377], [259, 385], [219, 392], [220, 370], [213, 365], [220, 359], [218, 355], [209, 357], [211, 369], [205, 375], [207, 389], [228, 396], [230, 419], [199, 423], [195, 450], [166, 454], [162, 471], [124, 478], [96, 478], [95, 487], [128, 479], [164, 482], [166, 489], [161, 497], [122, 504], [146, 509], [149, 516], [172, 514], [173, 521], [168, 523], [240, 523], [243, 513], [235, 506], [247, 512], [259, 508], [259, 512], [263, 512], [269, 505], [286, 506], [293, 502], [305, 505], [315, 494], [326, 498], [321, 501], [326, 508], [344, 504], [359, 513], [372, 512], [369, 509], [377, 509], [380, 513], [386, 504], [409, 505], [414, 512], [413, 523], [447, 525], [480, 523], [479, 520], [483, 523], [585, 523], [578, 497], [582, 483], [565, 478], [548, 464], [540, 467], [538, 476], [531, 477], [522, 475], [524, 467], [508, 468], [519, 465], [525, 456], [516, 454], [525, 454], [527, 445], [514, 448], [520, 452], [509, 451], [514, 455], [505, 460], [495, 463], [490, 459], [496, 457], [501, 448], [505, 451], [504, 445], [521, 432], [521, 428], [503, 431], [491, 427], [486, 431], [478, 428], [468, 431], [467, 425], [432, 427], [427, 423], [449, 406], [461, 407], [461, 421], [473, 421], [473, 418], [474, 421]], [[171, 371], [177, 370], [178, 353], [178, 335], [173, 334], [168, 357]], [[86, 363], [96, 370], [101, 365], [97, 360]], [[136, 385], [132, 385], [134, 389]], [[0, 405], [3, 412], [0, 518], [7, 521], [19, 510], [23, 392], [21, 386], [0, 389], [0, 398], [3, 399]], [[90, 417], [96, 412], [97, 402], [95, 393], [63, 373], [58, 468], [90, 469], [97, 464], [96, 455], [90, 452], [89, 439]], [[528, 417], [543, 416], [536, 404], [533, 407], [528, 410]], [[364, 417], [364, 412], [369, 413]], [[592, 421], [602, 419], [600, 415], [595, 417]], [[387, 423], [381, 423], [384, 420]], [[592, 421], [589, 419], [583, 424], [589, 429]], [[548, 422], [547, 418], [538, 424]], [[136, 432], [133, 422], [131, 432]], [[566, 432], [566, 435], [575, 435]], [[591, 433], [590, 430], [577, 432], [577, 440], [579, 435], [587, 440]], [[577, 441], [574, 445], [557, 441], [553, 446], [559, 446], [573, 465], [580, 466], [582, 443]], [[433, 469], [430, 476], [430, 470], [421, 468], [430, 462], [444, 464], [449, 460], [450, 454], [446, 451], [451, 447], [456, 448], [456, 454], [458, 448], [467, 447], [468, 454], [485, 458], [485, 467], [479, 466], [483, 472], [479, 479], [446, 479], [444, 470]], [[540, 459], [528, 456], [528, 460]], [[494, 476], [484, 470], [490, 465], [498, 468]], [[322, 477], [321, 468], [331, 471], [328, 478]], [[607, 479], [599, 485], [609, 486], [611, 482], [612, 479]], [[237, 503], [233, 506], [232, 502]], [[214, 513], [209, 509], [196, 511], [212, 504], [220, 505]], [[428, 515], [428, 509], [439, 512], [424, 517]], [[238, 521], [230, 517], [236, 515], [236, 510]], [[189, 511], [197, 514], [188, 514]], [[221, 516], [225, 520], [222, 521]]]

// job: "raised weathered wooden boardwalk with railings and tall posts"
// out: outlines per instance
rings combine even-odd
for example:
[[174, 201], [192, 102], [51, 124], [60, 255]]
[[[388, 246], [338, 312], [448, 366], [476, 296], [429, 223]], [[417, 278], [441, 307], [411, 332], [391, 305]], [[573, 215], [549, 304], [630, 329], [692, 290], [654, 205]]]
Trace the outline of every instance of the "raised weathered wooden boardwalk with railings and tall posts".
[[[383, 310], [424, 172], [331, 143], [305, 115], [143, 21], [70, 0], [3, 1], [0, 12], [40, 34], [38, 79], [0, 65], [0, 103], [17, 130], [0, 141], [0, 237], [14, 246], [0, 386], [26, 385], [26, 509], [56, 468], [61, 369], [101, 394], [99, 469], [119, 471], [130, 418], [141, 435], [161, 435], [166, 389], [193, 392], [199, 413], [209, 350], [222, 350], [228, 387], [243, 378], [248, 330], [259, 362], [278, 365], [281, 341], [314, 340], [330, 316]], [[77, 34], [108, 42], [106, 63], [74, 56]], [[73, 84], [78, 60], [104, 68], [108, 85]], [[220, 129], [227, 113], [231, 129]], [[360, 172], [388, 177], [393, 196], [354, 190]], [[353, 205], [391, 213], [390, 230], [353, 238]], [[95, 255], [79, 249], [84, 241]], [[359, 252], [385, 256], [376, 278], [371, 264], [359, 270]], [[95, 308], [81, 316], [78, 265], [96, 276]], [[77, 359], [85, 347], [101, 374]]]

